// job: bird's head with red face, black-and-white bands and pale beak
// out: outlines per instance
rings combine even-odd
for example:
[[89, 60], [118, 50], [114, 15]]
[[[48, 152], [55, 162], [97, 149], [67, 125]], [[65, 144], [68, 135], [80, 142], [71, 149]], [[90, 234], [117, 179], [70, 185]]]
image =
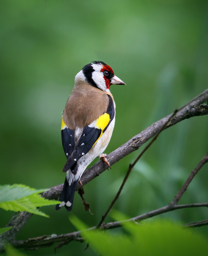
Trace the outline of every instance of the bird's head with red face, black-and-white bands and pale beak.
[[90, 85], [103, 91], [108, 90], [111, 84], [126, 85], [120, 78], [114, 75], [112, 68], [103, 61], [93, 61], [85, 65], [75, 76], [75, 84], [80, 82], [88, 82]]

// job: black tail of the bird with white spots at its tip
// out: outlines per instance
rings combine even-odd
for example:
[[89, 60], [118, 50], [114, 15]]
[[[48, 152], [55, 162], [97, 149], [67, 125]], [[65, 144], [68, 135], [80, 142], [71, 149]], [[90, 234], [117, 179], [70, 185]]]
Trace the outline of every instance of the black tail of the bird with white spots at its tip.
[[56, 204], [56, 210], [59, 210], [62, 206], [65, 206], [68, 212], [72, 210], [77, 183], [78, 183], [78, 180], [72, 182], [71, 185], [69, 186], [68, 180], [66, 177], [64, 181], [63, 190], [59, 198], [59, 201], [61, 201], [62, 203]]

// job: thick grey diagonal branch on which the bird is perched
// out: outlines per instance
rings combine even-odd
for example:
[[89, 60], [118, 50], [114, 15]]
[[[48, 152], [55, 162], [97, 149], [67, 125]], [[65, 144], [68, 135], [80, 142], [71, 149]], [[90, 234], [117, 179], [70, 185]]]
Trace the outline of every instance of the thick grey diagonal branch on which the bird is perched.
[[[187, 103], [182, 109], [178, 111], [178, 113], [172, 118], [171, 122], [169, 122], [164, 129], [169, 128], [172, 125], [175, 125], [181, 122], [184, 119], [193, 117], [193, 116], [203, 116], [208, 114], [208, 106], [201, 105], [204, 102], [208, 101], [208, 89], [199, 94], [189, 103]], [[111, 166], [118, 162], [123, 157], [127, 156], [128, 154], [132, 153], [133, 151], [137, 150], [142, 146], [147, 140], [154, 137], [161, 127], [167, 122], [172, 114], [162, 118], [161, 120], [157, 121], [156, 123], [150, 125], [147, 129], [140, 132], [136, 136], [134, 136], [131, 140], [127, 141], [121, 147], [117, 148], [113, 152], [111, 152], [107, 159]], [[103, 163], [103, 161], [99, 161], [98, 163], [94, 164], [92, 167], [87, 169], [81, 177], [82, 184], [85, 185], [90, 180], [94, 179], [95, 177], [99, 176], [102, 172], [104, 172], [108, 166]], [[61, 191], [63, 188], [63, 184], [55, 186], [51, 188], [47, 192], [43, 192], [42, 196], [47, 199], [57, 199], [61, 195]], [[80, 188], [80, 185], [77, 189]], [[4, 241], [9, 241], [11, 244], [15, 244], [14, 238], [17, 236], [19, 231], [24, 227], [26, 222], [31, 218], [32, 214], [28, 212], [20, 212], [16, 219], [12, 219], [10, 221], [10, 226], [14, 227], [9, 231], [0, 235], [0, 253], [4, 251]]]

